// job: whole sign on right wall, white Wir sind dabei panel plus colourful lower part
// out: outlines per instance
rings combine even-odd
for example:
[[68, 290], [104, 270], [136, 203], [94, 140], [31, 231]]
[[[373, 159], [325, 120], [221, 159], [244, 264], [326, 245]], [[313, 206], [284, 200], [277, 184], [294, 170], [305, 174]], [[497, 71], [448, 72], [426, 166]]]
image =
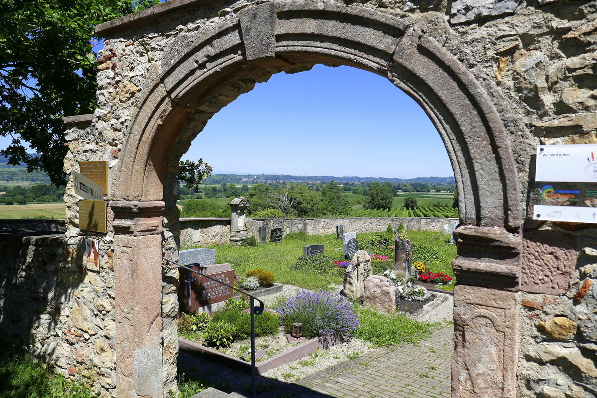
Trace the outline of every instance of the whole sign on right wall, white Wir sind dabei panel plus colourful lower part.
[[537, 147], [534, 220], [597, 224], [597, 144]]

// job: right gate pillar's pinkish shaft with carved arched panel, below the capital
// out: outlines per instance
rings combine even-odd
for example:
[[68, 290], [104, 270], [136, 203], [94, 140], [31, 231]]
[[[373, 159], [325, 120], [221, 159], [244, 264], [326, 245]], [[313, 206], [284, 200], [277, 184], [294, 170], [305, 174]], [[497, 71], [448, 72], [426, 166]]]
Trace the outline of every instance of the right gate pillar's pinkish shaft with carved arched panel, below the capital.
[[454, 288], [452, 395], [516, 396], [516, 294]]

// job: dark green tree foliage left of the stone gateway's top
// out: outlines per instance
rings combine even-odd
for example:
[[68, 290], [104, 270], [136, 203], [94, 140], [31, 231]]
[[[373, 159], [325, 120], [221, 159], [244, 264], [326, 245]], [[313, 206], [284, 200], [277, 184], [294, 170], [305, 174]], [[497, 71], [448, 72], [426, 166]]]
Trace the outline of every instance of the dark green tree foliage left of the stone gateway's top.
[[[96, 108], [97, 24], [151, 7], [158, 0], [0, 1], [0, 135], [8, 164], [44, 170], [64, 185], [61, 116]], [[27, 154], [26, 146], [41, 156]]]

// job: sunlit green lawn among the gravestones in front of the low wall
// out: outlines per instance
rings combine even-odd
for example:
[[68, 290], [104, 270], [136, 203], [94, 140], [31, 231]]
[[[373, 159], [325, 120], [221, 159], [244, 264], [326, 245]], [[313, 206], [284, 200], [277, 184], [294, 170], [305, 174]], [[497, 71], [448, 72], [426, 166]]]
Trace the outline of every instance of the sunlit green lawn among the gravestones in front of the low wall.
[[[358, 239], [366, 239], [374, 233], [358, 233]], [[442, 256], [442, 261], [426, 264], [430, 271], [443, 272], [454, 276], [451, 260], [456, 258], [456, 245], [447, 243], [447, 235], [442, 232], [410, 231], [414, 243], [430, 245]], [[237, 274], [244, 276], [248, 270], [263, 268], [276, 276], [276, 282], [296, 285], [302, 288], [318, 290], [328, 289], [333, 283], [341, 285], [341, 277], [334, 275], [312, 274], [297, 270], [294, 263], [303, 254], [305, 245], [324, 245], [324, 255], [341, 260], [341, 240], [336, 235], [290, 234], [281, 243], [258, 244], [251, 246], [211, 246], [216, 249], [217, 263], [230, 263]], [[192, 247], [192, 246], [191, 246]], [[189, 249], [183, 247], [181, 249]]]

